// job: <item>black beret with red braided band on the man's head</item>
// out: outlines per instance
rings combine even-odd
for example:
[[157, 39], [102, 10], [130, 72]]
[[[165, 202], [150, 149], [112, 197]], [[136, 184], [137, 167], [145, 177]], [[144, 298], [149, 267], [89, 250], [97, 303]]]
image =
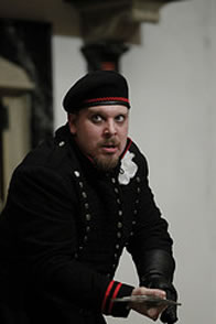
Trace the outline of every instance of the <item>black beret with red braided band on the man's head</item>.
[[118, 72], [90, 72], [78, 79], [63, 99], [63, 107], [67, 112], [101, 105], [123, 105], [130, 108], [128, 84]]

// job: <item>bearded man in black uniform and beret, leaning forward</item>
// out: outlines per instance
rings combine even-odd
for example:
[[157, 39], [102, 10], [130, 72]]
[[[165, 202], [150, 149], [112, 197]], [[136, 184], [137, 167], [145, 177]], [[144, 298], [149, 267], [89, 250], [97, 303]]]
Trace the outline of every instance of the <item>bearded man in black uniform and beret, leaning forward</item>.
[[[102, 314], [126, 317], [130, 310], [175, 323], [175, 306], [115, 301], [176, 300], [168, 223], [145, 158], [128, 138], [125, 77], [89, 73], [63, 106], [66, 126], [24, 159], [10, 184], [0, 224], [1, 323], [99, 324]], [[114, 279], [125, 247], [138, 288]]]

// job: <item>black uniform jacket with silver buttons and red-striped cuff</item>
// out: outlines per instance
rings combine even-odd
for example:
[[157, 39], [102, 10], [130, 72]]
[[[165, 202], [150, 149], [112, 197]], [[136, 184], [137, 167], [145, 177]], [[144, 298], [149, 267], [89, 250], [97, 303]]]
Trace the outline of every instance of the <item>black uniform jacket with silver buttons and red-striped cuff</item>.
[[[65, 126], [17, 168], [0, 218], [0, 323], [105, 323], [127, 316], [133, 287], [114, 280], [123, 248], [172, 255], [148, 166], [128, 139], [119, 165], [98, 171]], [[144, 269], [143, 269], [144, 271]], [[139, 269], [140, 274], [142, 269]]]

